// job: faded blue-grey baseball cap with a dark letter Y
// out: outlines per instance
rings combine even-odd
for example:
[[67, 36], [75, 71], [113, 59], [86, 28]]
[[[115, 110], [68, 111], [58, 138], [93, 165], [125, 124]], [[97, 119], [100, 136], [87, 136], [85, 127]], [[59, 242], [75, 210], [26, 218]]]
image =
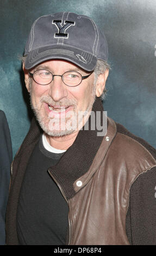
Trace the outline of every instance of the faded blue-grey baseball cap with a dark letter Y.
[[107, 39], [88, 16], [70, 12], [45, 15], [33, 23], [24, 56], [26, 69], [49, 59], [64, 59], [92, 71], [97, 59], [108, 59]]

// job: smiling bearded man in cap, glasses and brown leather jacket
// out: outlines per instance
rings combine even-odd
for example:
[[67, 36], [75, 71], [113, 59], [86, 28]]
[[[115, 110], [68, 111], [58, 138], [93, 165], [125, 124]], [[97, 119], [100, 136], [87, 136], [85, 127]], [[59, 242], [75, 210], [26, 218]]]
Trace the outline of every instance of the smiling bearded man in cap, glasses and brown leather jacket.
[[12, 164], [8, 245], [156, 242], [156, 152], [105, 120], [107, 60], [89, 17], [34, 22], [23, 70], [36, 119]]

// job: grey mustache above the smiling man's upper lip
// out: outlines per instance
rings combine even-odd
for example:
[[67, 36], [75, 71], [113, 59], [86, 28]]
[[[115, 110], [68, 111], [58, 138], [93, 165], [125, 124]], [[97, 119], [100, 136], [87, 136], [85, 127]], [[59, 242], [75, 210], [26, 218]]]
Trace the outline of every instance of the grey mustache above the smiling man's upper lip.
[[58, 106], [58, 107], [62, 107], [62, 106], [65, 106], [65, 107], [68, 107], [68, 106], [76, 106], [77, 105], [77, 100], [74, 100], [74, 99], [63, 99], [63, 100], [60, 100], [60, 101], [54, 101], [52, 99], [51, 96], [49, 95], [45, 95], [45, 96], [41, 96], [41, 99], [40, 99], [40, 102], [46, 102], [48, 105], [50, 106]]

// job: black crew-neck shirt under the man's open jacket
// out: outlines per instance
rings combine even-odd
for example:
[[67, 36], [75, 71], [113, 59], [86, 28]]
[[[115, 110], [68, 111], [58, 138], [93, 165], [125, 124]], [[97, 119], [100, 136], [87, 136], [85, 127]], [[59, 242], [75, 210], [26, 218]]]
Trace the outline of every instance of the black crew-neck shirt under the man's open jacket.
[[42, 137], [30, 157], [17, 210], [20, 245], [65, 245], [68, 205], [48, 173], [64, 153], [47, 151]]

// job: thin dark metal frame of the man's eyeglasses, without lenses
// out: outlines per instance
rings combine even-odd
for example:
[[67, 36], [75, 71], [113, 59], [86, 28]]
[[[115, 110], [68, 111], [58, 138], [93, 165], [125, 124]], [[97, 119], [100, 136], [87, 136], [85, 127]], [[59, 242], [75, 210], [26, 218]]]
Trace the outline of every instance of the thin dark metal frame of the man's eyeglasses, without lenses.
[[[33, 73], [29, 72], [30, 77], [32, 77], [34, 81], [35, 81], [35, 79], [34, 79], [34, 74], [35, 74], [36, 71], [39, 71], [39, 70], [47, 70], [47, 71], [49, 71], [48, 69], [38, 69], [38, 70], [35, 70]], [[88, 78], [88, 77], [93, 73], [94, 70], [92, 70], [91, 73], [90, 73], [89, 75], [87, 75], [87, 76], [82, 76], [82, 74], [80, 74], [78, 71], [75, 71], [75, 70], [71, 70], [71, 71], [77, 72], [77, 73], [82, 77], [82, 80], [80, 81], [80, 83], [82, 83], [82, 81], [83, 81], [84, 79]], [[51, 72], [51, 71], [49, 71], [49, 72]], [[70, 72], [70, 71], [66, 71], [66, 72], [64, 72], [64, 74], [67, 73], [67, 72]], [[63, 75], [53, 75], [52, 72], [51, 72], [51, 74], [52, 74], [52, 81], [53, 81], [54, 76], [60, 76], [60, 77], [61, 77], [61, 80], [63, 81], [63, 75], [64, 75], [64, 74], [63, 74]], [[52, 81], [51, 81], [51, 82], [52, 82]], [[51, 82], [49, 82], [49, 83], [47, 83], [47, 84], [41, 84], [41, 83], [38, 83], [38, 82], [35, 81], [35, 83], [40, 84], [40, 86], [47, 86], [47, 85], [50, 84]], [[66, 86], [68, 86], [68, 84], [66, 84], [64, 81], [63, 81], [63, 83], [64, 83]], [[79, 84], [80, 84], [80, 83], [79, 83]], [[77, 84], [76, 86], [79, 86], [79, 84]], [[68, 86], [68, 87], [76, 87], [76, 86]]]

